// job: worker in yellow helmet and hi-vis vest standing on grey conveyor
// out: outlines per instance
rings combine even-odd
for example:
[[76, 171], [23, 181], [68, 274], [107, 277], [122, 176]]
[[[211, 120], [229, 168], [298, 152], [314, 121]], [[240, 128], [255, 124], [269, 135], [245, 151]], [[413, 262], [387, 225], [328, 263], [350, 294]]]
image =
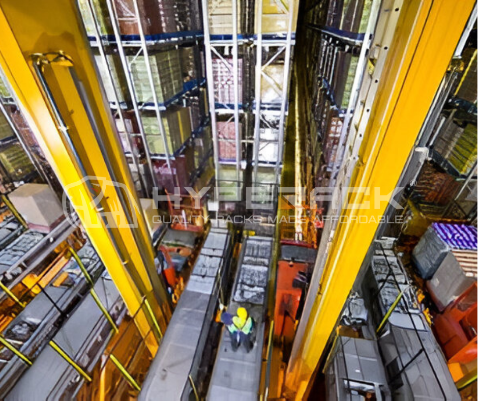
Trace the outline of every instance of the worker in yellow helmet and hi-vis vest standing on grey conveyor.
[[246, 308], [237, 308], [236, 316], [226, 311], [222, 312], [221, 321], [231, 336], [232, 350], [237, 351], [239, 346], [244, 344], [246, 351], [250, 352], [254, 347], [254, 319], [248, 316]]

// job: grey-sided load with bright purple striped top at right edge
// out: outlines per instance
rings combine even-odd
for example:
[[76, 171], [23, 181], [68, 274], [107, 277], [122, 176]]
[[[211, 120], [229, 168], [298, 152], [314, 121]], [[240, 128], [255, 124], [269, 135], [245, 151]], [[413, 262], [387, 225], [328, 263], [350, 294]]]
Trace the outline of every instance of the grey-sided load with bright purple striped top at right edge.
[[464, 224], [433, 223], [413, 249], [413, 261], [420, 277], [433, 277], [448, 252], [477, 249], [476, 227]]

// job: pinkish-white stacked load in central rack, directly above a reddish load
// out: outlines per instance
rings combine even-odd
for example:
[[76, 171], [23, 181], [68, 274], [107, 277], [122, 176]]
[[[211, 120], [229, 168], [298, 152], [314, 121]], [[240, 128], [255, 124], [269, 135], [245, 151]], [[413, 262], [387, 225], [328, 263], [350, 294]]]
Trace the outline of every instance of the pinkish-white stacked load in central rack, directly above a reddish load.
[[[225, 63], [221, 59], [213, 59], [213, 79], [215, 81], [214, 96], [216, 102], [224, 104], [234, 104], [234, 78], [232, 68], [232, 58], [224, 59]], [[242, 79], [242, 59], [237, 61], [237, 73], [238, 73], [238, 95], [239, 103], [242, 103], [243, 92], [243, 79]]]

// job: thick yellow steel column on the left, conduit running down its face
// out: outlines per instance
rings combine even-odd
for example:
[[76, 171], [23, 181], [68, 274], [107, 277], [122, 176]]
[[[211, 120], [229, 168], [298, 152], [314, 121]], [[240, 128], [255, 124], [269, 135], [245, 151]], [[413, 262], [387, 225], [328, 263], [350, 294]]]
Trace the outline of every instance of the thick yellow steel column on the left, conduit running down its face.
[[[72, 203], [86, 205], [78, 210], [80, 220], [129, 311], [134, 314], [146, 297], [160, 317], [164, 332], [170, 317], [168, 296], [155, 271], [151, 239], [76, 2], [5, 0], [0, 6], [0, 66], [25, 118]], [[49, 97], [35, 72], [32, 55], [42, 60], [49, 56], [38, 54], [59, 51], [70, 62], [41, 66]], [[58, 115], [67, 128], [58, 124]], [[100, 178], [96, 182], [100, 186], [95, 188], [104, 197], [98, 205], [91, 202], [95, 194], [84, 181], [85, 175]], [[121, 187], [101, 187], [102, 182], [116, 182]], [[116, 223], [134, 225], [108, 227], [102, 217], [105, 215], [113, 216]], [[151, 328], [155, 330], [146, 311], [137, 316], [136, 323], [144, 336]]]

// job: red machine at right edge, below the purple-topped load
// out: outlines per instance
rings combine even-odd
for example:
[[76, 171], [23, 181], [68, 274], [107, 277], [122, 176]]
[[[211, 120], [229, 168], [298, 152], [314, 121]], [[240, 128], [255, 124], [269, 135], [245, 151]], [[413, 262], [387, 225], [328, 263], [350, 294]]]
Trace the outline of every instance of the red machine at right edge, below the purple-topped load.
[[477, 293], [475, 282], [435, 317], [433, 331], [449, 363], [476, 359]]

